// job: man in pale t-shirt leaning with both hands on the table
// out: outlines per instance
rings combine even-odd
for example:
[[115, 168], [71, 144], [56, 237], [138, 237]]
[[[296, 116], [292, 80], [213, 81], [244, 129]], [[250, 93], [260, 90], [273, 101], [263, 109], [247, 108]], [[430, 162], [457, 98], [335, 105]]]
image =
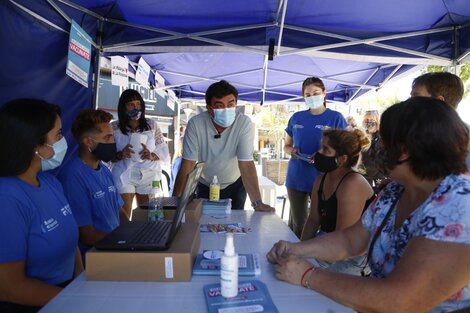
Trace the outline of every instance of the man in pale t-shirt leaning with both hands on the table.
[[253, 162], [255, 127], [247, 116], [235, 111], [237, 97], [237, 89], [225, 80], [207, 89], [207, 112], [194, 116], [186, 127], [173, 195], [181, 196], [187, 174], [197, 162], [205, 162], [198, 185], [200, 198], [209, 198], [209, 185], [217, 176], [220, 198], [232, 199], [232, 209], [243, 210], [248, 193], [255, 211], [274, 212], [261, 201]]

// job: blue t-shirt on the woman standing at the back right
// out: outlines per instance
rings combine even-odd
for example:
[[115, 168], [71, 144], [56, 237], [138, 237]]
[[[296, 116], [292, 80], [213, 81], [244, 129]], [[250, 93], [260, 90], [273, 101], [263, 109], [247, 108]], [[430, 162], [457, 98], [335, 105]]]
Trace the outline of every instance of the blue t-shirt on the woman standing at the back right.
[[[294, 147], [302, 154], [313, 154], [320, 150], [322, 131], [328, 128], [346, 128], [348, 123], [337, 111], [326, 109], [319, 115], [309, 110], [294, 113], [289, 119], [286, 133], [292, 138]], [[321, 173], [313, 164], [291, 158], [287, 168], [286, 187], [311, 192], [313, 182]]]

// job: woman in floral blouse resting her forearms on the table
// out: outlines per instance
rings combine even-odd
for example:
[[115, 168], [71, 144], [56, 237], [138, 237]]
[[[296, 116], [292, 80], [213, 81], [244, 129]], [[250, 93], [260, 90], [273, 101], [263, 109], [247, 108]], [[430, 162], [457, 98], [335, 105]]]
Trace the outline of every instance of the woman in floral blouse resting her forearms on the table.
[[[388, 108], [380, 135], [392, 182], [355, 225], [268, 253], [276, 277], [360, 312], [470, 308], [468, 128], [444, 102], [413, 97]], [[368, 252], [372, 277], [312, 266]]]

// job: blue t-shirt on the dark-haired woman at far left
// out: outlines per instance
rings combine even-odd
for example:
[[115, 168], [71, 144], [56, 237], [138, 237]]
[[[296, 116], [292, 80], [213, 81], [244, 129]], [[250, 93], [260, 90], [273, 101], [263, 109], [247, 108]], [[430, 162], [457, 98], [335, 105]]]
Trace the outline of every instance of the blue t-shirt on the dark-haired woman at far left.
[[37, 178], [0, 177], [0, 262], [24, 261], [27, 277], [57, 285], [73, 278], [77, 224], [57, 179]]

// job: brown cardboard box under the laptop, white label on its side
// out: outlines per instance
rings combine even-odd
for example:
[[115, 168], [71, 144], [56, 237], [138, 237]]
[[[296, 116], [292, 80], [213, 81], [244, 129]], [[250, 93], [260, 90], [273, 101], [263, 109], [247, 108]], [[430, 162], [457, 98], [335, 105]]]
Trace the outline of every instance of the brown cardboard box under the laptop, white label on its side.
[[86, 253], [87, 280], [190, 281], [200, 243], [198, 223], [184, 223], [165, 251]]

